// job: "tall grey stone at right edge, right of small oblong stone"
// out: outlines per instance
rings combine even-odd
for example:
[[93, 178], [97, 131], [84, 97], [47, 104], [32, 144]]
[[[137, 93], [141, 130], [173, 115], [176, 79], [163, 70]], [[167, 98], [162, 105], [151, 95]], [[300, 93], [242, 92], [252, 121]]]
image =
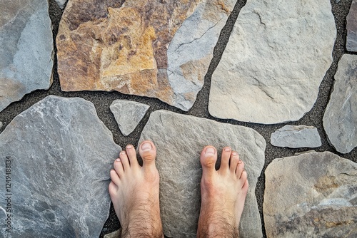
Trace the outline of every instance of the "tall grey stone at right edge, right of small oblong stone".
[[338, 152], [357, 146], [357, 56], [343, 55], [338, 62], [330, 102], [323, 115], [323, 128]]

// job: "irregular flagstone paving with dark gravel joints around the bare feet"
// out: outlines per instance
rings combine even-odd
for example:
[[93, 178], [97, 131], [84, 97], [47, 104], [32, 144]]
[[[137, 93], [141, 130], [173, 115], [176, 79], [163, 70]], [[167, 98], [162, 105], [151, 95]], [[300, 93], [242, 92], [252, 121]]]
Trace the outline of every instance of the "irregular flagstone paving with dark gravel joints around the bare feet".
[[246, 162], [241, 237], [357, 235], [356, 0], [57, 2], [0, 3], [13, 237], [119, 229], [109, 170], [144, 139], [159, 149], [167, 237], [195, 237], [206, 144]]

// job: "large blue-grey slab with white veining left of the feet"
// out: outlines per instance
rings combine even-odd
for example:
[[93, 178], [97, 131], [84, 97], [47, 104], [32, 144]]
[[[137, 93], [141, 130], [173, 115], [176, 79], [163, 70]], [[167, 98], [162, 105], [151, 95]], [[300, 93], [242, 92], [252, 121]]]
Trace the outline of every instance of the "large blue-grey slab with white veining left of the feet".
[[[0, 134], [1, 172], [11, 157], [11, 237], [99, 237], [109, 216], [109, 171], [120, 151], [82, 98], [48, 96], [17, 115]], [[5, 197], [2, 190], [4, 212]], [[8, 236], [5, 226], [0, 236]]]

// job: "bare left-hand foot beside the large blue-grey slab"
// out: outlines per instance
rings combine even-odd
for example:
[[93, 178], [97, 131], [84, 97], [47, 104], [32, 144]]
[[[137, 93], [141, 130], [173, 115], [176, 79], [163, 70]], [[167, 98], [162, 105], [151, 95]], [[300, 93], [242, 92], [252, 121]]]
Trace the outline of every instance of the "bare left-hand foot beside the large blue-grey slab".
[[121, 224], [121, 237], [164, 237], [159, 208], [159, 172], [156, 148], [149, 140], [141, 143], [136, 159], [133, 145], [121, 151], [111, 170], [109, 194]]

